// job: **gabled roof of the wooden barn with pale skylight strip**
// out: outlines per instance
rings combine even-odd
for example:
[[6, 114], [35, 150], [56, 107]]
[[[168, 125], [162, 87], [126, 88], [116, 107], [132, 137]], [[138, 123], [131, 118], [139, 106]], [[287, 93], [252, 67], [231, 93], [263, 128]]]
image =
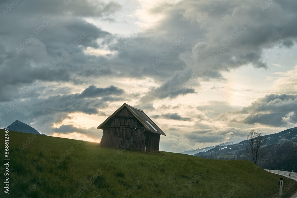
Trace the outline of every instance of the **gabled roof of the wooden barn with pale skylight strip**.
[[97, 128], [103, 129], [104, 124], [110, 120], [116, 113], [118, 113], [122, 108], [127, 107], [127, 109], [140, 121], [140, 123], [150, 132], [165, 135], [164, 132], [147, 116], [143, 110], [137, 109], [124, 103], [118, 110], [111, 114], [104, 122], [102, 122]]

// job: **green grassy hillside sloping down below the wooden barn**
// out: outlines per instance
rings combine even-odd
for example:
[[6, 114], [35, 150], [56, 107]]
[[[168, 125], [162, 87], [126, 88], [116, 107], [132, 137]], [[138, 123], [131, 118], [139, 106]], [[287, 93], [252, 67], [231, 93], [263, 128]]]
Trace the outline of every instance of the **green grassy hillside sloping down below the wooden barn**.
[[[245, 160], [119, 151], [98, 143], [9, 132], [10, 194], [0, 197], [277, 197], [280, 176]], [[0, 131], [1, 161], [4, 131]], [[4, 164], [4, 163], [1, 163]], [[2, 167], [1, 167], [2, 166]], [[1, 186], [4, 181], [0, 165]], [[284, 178], [283, 197], [297, 189]]]

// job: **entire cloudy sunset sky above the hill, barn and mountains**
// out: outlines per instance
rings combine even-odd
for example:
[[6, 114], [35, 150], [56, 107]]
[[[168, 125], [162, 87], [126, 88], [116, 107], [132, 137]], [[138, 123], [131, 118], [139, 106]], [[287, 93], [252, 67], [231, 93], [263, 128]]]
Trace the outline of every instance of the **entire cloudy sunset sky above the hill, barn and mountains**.
[[0, 127], [100, 142], [124, 102], [161, 151], [297, 126], [297, 1], [0, 2]]

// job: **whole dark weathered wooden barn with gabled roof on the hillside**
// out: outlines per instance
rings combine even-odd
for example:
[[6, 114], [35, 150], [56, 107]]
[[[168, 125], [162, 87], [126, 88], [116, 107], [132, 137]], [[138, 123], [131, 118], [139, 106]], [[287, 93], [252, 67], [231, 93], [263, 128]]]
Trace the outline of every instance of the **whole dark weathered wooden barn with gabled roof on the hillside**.
[[139, 151], [159, 151], [164, 132], [143, 110], [124, 103], [98, 129], [103, 130], [100, 145]]

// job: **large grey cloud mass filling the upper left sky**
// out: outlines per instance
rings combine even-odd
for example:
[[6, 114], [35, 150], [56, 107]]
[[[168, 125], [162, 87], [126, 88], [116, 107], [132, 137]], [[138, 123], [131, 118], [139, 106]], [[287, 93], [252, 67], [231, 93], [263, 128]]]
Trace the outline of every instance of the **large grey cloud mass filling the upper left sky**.
[[[75, 73], [82, 77], [89, 77], [92, 70], [97, 71], [96, 77], [113, 73], [104, 68], [108, 65], [106, 58], [84, 53], [86, 47], [100, 47], [96, 39], [110, 33], [80, 18], [100, 17], [112, 3], [73, 0], [65, 6], [63, 1], [20, 1], [9, 13], [1, 13], [0, 91], [5, 94], [1, 94], [0, 102], [11, 101], [17, 90], [36, 80], [81, 84], [90, 80], [73, 78]], [[0, 7], [6, 9], [6, 5], [1, 1]], [[121, 6], [116, 7], [112, 12]]]

